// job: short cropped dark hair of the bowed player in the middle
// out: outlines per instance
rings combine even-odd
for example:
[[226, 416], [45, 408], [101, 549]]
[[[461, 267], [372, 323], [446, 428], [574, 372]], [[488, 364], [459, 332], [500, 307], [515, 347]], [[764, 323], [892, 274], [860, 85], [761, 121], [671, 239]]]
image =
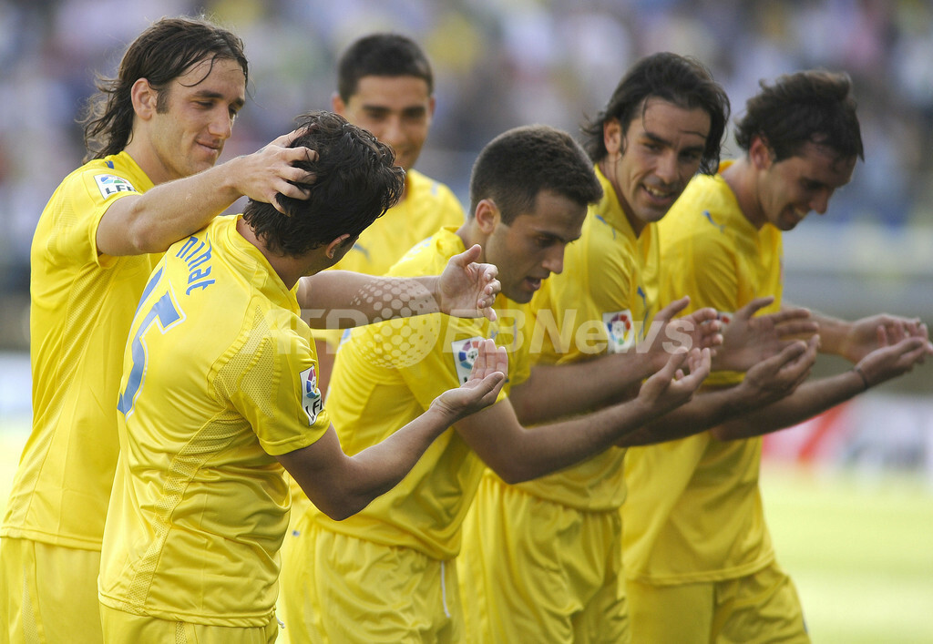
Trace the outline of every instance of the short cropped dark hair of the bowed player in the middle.
[[492, 199], [502, 222], [530, 213], [541, 190], [580, 205], [598, 202], [603, 189], [583, 148], [568, 134], [546, 125], [501, 133], [480, 150], [470, 176], [470, 217]]

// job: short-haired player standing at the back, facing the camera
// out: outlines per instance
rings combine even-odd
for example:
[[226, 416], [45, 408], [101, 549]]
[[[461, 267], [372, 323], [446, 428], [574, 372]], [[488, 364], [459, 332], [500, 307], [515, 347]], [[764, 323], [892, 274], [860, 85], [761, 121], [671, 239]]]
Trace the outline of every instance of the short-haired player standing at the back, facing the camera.
[[[405, 170], [402, 197], [360, 234], [335, 268], [383, 275], [411, 246], [442, 226], [459, 226], [463, 206], [444, 184], [414, 170], [434, 116], [434, 75], [425, 52], [411, 38], [389, 33], [355, 40], [341, 55], [334, 112], [369, 130], [396, 152]], [[328, 325], [333, 327], [336, 325]], [[327, 393], [340, 331], [314, 334]]]

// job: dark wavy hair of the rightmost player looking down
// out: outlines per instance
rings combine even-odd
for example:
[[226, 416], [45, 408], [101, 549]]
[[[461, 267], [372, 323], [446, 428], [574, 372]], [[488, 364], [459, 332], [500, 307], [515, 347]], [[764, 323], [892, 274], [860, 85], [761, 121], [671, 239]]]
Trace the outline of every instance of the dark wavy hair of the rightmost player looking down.
[[760, 136], [775, 161], [796, 156], [807, 143], [830, 147], [845, 159], [865, 159], [852, 79], [844, 73], [809, 70], [778, 77], [745, 103], [735, 140], [745, 152]]

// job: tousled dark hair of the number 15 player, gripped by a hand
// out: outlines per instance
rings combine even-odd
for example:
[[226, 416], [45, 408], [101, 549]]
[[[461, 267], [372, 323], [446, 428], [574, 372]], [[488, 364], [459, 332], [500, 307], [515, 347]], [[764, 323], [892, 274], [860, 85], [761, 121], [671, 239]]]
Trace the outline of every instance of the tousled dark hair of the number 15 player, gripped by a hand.
[[283, 215], [271, 203], [250, 200], [244, 219], [273, 253], [298, 257], [343, 234], [355, 238], [395, 205], [405, 186], [396, 155], [375, 136], [332, 112], [296, 119], [304, 132], [290, 147], [310, 147], [317, 161], [296, 167], [314, 173], [307, 200], [277, 195]]

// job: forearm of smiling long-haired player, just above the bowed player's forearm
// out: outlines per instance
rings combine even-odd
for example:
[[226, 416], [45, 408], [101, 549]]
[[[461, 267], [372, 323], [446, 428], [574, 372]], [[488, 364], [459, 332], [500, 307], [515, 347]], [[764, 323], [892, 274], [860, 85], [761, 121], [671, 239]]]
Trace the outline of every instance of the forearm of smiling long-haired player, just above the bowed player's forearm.
[[548, 423], [632, 399], [637, 386], [661, 365], [634, 351], [562, 365], [536, 365], [510, 394], [523, 425]]

